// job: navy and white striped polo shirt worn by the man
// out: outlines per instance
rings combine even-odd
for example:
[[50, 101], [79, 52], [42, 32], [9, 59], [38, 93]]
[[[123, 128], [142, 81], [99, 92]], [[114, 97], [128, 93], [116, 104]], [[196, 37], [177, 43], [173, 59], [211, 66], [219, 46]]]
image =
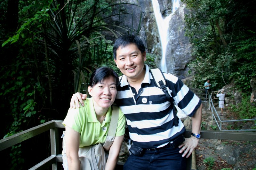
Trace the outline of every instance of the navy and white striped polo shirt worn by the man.
[[[179, 126], [174, 126], [171, 102], [155, 85], [146, 64], [145, 67], [146, 75], [138, 94], [123, 75], [117, 86], [115, 103], [126, 117], [133, 144], [142, 148], [157, 148], [168, 144], [186, 129], [180, 120]], [[169, 73], [164, 73], [164, 76], [176, 105], [184, 114], [193, 116], [201, 100], [177, 77]]]

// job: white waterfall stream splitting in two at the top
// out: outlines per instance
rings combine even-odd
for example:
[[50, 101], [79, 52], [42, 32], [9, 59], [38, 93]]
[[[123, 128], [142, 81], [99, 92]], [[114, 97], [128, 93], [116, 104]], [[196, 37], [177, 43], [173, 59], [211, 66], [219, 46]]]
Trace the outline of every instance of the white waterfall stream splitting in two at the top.
[[160, 38], [160, 42], [161, 42], [161, 48], [162, 48], [161, 69], [163, 72], [167, 72], [165, 55], [166, 55], [167, 44], [169, 41], [169, 21], [172, 18], [172, 14], [180, 6], [180, 1], [172, 0], [172, 13], [165, 18], [162, 17], [158, 1], [152, 0], [152, 4], [153, 4], [153, 9], [154, 9], [154, 14], [156, 17], [156, 24], [157, 24], [159, 38]]

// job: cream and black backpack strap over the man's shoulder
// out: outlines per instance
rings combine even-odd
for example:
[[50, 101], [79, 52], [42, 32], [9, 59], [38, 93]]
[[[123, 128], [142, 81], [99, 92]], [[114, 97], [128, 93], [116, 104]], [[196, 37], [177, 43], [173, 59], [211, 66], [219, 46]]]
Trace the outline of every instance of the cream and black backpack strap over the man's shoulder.
[[161, 69], [150, 69], [149, 72], [151, 73], [153, 80], [158, 88], [161, 88], [164, 92], [166, 99], [169, 100], [172, 104], [172, 112], [173, 112], [173, 121], [174, 126], [178, 126], [179, 118], [177, 116], [176, 107], [174, 105], [174, 99], [170, 96], [166, 88], [166, 79]]

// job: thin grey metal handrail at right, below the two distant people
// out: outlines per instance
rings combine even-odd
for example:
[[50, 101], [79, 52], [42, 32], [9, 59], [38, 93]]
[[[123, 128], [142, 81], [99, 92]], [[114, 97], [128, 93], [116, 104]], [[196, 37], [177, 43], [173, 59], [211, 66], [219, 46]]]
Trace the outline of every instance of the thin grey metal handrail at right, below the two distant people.
[[[223, 130], [222, 129], [222, 123], [225, 123], [225, 122], [255, 121], [256, 119], [240, 119], [240, 120], [228, 120], [228, 121], [221, 120], [219, 114], [217, 113], [217, 111], [216, 111], [216, 109], [215, 109], [215, 107], [213, 105], [211, 94], [209, 94], [209, 108], [212, 111], [212, 120], [214, 118], [214, 120], [215, 120], [215, 122], [216, 122], [216, 124], [217, 124], [217, 126], [219, 128], [219, 130], [221, 130], [221, 131], [256, 131], [256, 129], [229, 129], [229, 130], [227, 129], [227, 130]], [[220, 124], [217, 121], [217, 119], [220, 122]]]

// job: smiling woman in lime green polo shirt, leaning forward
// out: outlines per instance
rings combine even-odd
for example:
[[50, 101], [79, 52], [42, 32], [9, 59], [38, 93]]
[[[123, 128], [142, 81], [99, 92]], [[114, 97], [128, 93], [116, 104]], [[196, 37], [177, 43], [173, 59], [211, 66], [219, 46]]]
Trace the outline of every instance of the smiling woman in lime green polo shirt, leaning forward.
[[[78, 150], [80, 147], [104, 143], [111, 120], [111, 105], [116, 99], [119, 79], [115, 71], [102, 67], [90, 78], [88, 92], [92, 98], [84, 100], [85, 107], [69, 108], [63, 121], [66, 127], [66, 156], [68, 169], [80, 169]], [[119, 109], [116, 137], [109, 149], [105, 169], [115, 169], [125, 132], [125, 117]]]

